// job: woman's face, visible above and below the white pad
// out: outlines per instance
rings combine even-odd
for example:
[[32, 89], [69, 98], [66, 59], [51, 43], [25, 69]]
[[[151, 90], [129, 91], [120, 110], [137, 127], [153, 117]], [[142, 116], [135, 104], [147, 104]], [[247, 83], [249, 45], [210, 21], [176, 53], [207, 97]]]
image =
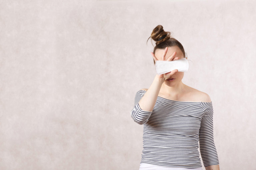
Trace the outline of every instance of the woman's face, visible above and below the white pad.
[[[174, 51], [176, 51], [174, 58], [175, 57], [179, 57], [179, 59], [184, 58], [184, 54], [180, 50], [180, 48], [178, 46], [172, 46], [172, 47], [168, 47], [168, 51], [166, 53], [165, 60], [167, 60], [174, 53]], [[156, 49], [156, 51], [155, 51], [156, 58], [158, 60], [162, 60], [163, 53], [164, 53], [164, 49]], [[171, 61], [173, 61], [173, 59]], [[174, 73], [171, 76], [172, 78], [175, 78], [175, 79], [173, 81], [165, 80], [165, 83], [173, 86], [173, 85], [181, 82], [183, 76], [184, 76], [184, 72], [177, 71], [176, 73]]]

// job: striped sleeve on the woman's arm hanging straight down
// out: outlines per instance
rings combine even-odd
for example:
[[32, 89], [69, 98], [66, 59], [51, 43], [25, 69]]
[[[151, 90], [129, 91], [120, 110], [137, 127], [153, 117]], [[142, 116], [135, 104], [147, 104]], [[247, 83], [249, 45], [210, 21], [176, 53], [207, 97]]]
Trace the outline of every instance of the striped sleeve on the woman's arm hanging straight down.
[[218, 165], [219, 159], [213, 138], [212, 102], [202, 102], [204, 115], [199, 130], [200, 153], [204, 166]]

